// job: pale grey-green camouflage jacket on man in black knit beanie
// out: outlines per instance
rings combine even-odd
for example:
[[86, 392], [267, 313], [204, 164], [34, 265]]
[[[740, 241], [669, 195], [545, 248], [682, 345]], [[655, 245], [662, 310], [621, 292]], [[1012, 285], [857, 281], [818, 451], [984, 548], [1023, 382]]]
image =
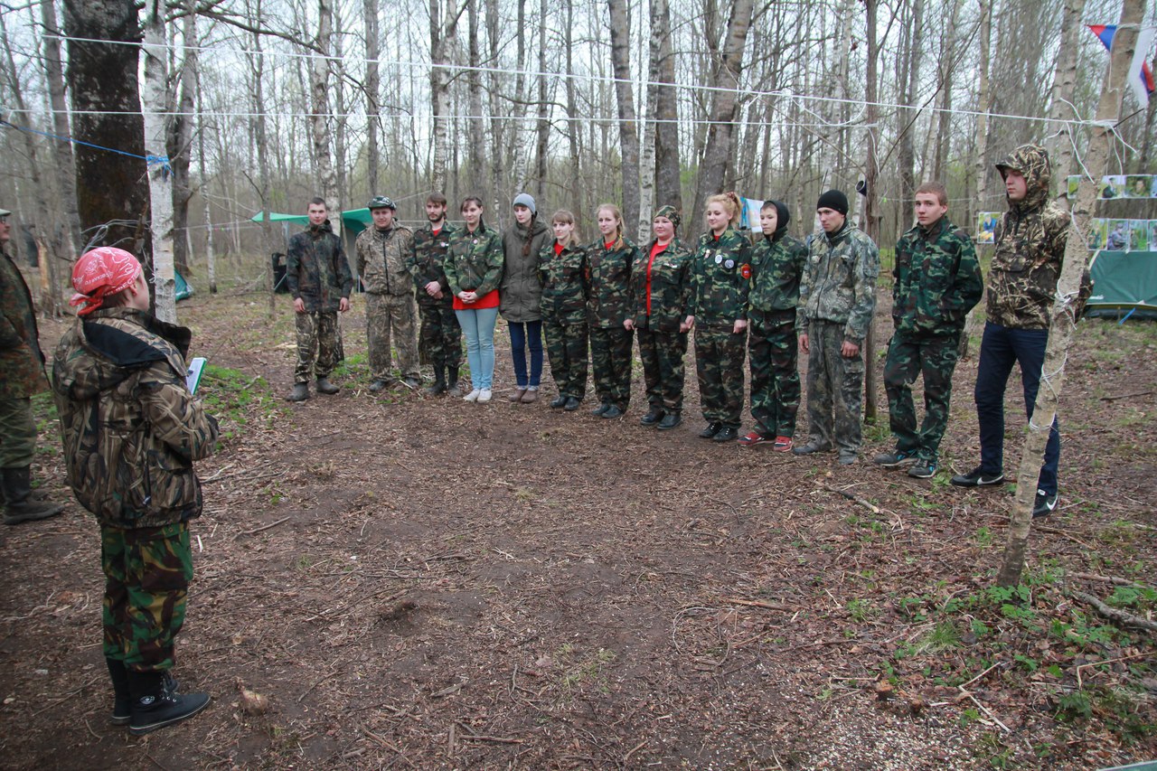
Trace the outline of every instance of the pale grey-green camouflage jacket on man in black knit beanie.
[[796, 330], [806, 333], [812, 321], [843, 324], [843, 339], [858, 345], [876, 309], [877, 277], [879, 250], [850, 221], [834, 234], [813, 235], [799, 280]]

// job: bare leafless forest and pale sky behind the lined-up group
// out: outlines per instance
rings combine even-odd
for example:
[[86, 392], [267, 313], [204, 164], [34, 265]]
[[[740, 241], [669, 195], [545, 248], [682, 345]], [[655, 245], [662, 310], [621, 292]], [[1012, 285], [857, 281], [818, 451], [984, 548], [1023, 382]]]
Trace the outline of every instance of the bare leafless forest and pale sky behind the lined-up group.
[[[818, 194], [852, 193], [871, 159], [884, 245], [929, 179], [946, 182], [950, 216], [973, 229], [978, 212], [1003, 207], [992, 162], [1012, 147], [1046, 142], [1055, 190], [1081, 172], [1108, 64], [1085, 24], [1115, 23], [1120, 2], [5, 6], [0, 206], [61, 259], [106, 236], [100, 225], [121, 226], [121, 241], [147, 232], [134, 113], [152, 13], [167, 56], [176, 264], [196, 273], [214, 247], [278, 250], [280, 228], [263, 236], [250, 218], [303, 213], [316, 194], [344, 210], [388, 194], [408, 223], [432, 190], [451, 211], [480, 194], [487, 221], [504, 226], [526, 191], [543, 216], [574, 211], [590, 238], [600, 201], [622, 205], [628, 234], [675, 204], [686, 236], [707, 194], [736, 190], [786, 200], [806, 230]], [[1157, 171], [1155, 105], [1127, 97], [1110, 174]]]

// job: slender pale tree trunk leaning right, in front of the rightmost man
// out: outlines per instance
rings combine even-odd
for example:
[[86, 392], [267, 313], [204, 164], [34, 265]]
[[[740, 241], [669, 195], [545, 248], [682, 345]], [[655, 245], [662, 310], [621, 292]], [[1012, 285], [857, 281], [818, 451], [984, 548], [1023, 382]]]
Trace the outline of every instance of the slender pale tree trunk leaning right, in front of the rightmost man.
[[1032, 527], [1032, 507], [1037, 495], [1037, 476], [1045, 457], [1045, 445], [1056, 416], [1056, 403], [1064, 386], [1064, 365], [1068, 361], [1069, 346], [1077, 320], [1073, 315], [1071, 301], [1077, 296], [1081, 277], [1089, 265], [1090, 218], [1097, 201], [1097, 182], [1108, 172], [1113, 131], [1121, 113], [1121, 96], [1125, 91], [1125, 79], [1133, 59], [1137, 41], [1137, 28], [1144, 17], [1144, 0], [1125, 0], [1121, 8], [1121, 21], [1113, 38], [1113, 50], [1110, 54], [1110, 66], [1105, 73], [1105, 82], [1097, 108], [1096, 125], [1091, 127], [1092, 139], [1084, 156], [1085, 168], [1093, 178], [1083, 177], [1073, 205], [1073, 218], [1076, 227], [1069, 228], [1068, 244], [1064, 249], [1064, 265], [1056, 282], [1056, 301], [1053, 304], [1052, 321], [1048, 328], [1048, 344], [1045, 347], [1045, 373], [1041, 388], [1037, 391], [1037, 405], [1033, 409], [1020, 455], [1020, 468], [1017, 471], [1016, 502], [1009, 515], [1009, 538], [1004, 546], [1004, 558], [1001, 563], [996, 583], [1003, 587], [1020, 582], [1024, 563], [1029, 551], [1029, 530]]

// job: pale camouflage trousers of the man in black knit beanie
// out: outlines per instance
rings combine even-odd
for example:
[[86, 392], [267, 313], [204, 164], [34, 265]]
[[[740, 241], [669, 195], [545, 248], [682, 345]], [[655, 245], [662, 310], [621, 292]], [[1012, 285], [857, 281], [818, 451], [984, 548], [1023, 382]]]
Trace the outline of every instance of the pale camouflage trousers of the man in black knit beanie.
[[858, 453], [863, 350], [845, 358], [843, 322], [813, 321], [808, 325], [809, 442], [841, 453]]

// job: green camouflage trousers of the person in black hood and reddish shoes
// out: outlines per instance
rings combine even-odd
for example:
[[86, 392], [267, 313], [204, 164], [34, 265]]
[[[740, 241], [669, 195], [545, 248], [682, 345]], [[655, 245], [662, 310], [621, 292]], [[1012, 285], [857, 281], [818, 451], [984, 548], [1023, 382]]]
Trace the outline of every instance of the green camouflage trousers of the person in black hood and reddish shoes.
[[752, 310], [747, 323], [751, 416], [769, 436], [795, 434], [799, 412], [795, 315], [795, 310]]

